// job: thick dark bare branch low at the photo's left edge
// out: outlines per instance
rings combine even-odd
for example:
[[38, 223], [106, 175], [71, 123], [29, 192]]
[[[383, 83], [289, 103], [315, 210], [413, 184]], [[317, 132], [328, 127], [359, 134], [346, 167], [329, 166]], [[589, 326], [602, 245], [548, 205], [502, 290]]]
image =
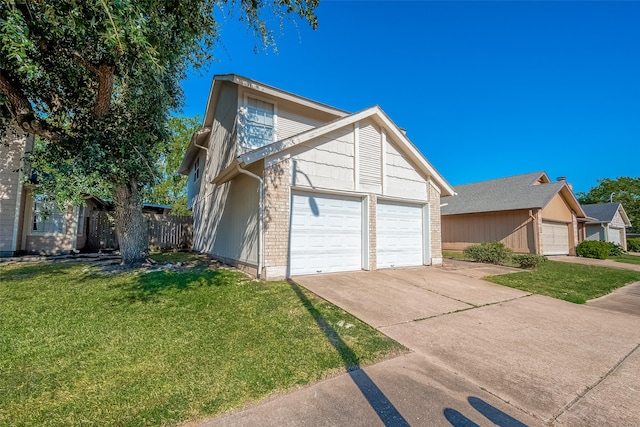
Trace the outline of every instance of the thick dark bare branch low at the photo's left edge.
[[9, 100], [9, 111], [22, 130], [53, 142], [62, 139], [64, 130], [51, 126], [37, 117], [31, 102], [20, 90], [20, 84], [11, 80], [2, 69], [0, 69], [0, 92]]

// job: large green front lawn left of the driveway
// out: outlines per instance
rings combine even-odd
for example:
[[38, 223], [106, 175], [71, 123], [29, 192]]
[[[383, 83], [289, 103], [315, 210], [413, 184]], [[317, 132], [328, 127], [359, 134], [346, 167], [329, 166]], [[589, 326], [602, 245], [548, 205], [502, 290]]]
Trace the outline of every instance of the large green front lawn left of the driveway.
[[0, 425], [12, 426], [199, 420], [404, 351], [293, 284], [204, 266], [3, 266], [0, 327]]

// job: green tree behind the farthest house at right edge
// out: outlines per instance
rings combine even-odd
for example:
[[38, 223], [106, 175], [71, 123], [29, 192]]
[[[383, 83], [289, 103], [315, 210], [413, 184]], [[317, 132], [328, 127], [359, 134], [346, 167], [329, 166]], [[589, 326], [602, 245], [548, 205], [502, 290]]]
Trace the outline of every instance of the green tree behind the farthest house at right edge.
[[613, 201], [622, 203], [631, 220], [630, 231], [640, 233], [640, 177], [599, 179], [597, 186], [591, 187], [586, 193], [579, 192], [576, 196], [582, 204], [609, 203], [612, 193]]

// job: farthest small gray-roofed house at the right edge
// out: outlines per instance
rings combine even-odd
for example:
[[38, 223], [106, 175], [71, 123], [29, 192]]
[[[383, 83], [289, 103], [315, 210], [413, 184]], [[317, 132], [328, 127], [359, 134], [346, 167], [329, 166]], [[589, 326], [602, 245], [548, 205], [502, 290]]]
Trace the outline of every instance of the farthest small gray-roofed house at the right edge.
[[604, 240], [627, 250], [627, 227], [631, 221], [621, 203], [582, 205], [588, 217], [595, 221], [585, 223], [586, 240]]

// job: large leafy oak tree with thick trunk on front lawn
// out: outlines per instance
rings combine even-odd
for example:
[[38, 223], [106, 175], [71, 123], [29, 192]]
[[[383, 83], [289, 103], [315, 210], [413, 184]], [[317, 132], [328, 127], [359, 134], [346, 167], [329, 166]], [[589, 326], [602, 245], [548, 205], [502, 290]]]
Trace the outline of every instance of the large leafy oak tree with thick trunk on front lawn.
[[318, 1], [0, 0], [0, 104], [44, 141], [33, 160], [58, 197], [112, 195], [123, 263], [135, 263], [147, 253], [140, 191], [158, 174], [180, 80], [213, 59], [216, 14], [269, 44], [265, 17], [315, 28]]

